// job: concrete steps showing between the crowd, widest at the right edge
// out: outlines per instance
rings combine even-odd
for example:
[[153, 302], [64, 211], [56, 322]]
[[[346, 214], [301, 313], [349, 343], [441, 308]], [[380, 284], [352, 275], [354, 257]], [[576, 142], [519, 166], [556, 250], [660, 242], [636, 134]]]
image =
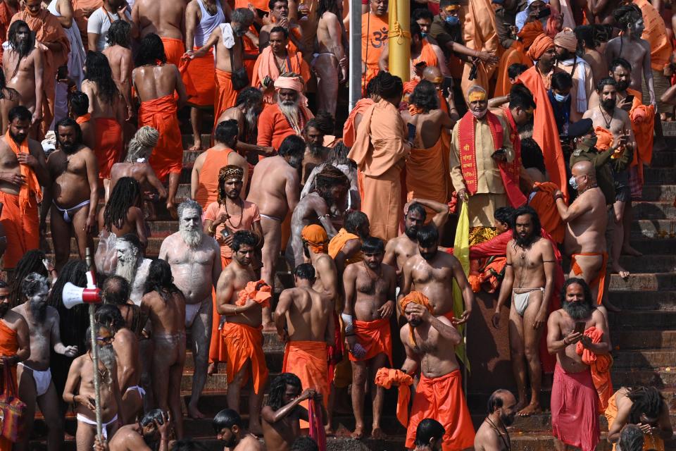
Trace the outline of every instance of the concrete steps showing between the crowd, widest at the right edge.
[[[613, 346], [613, 385], [619, 388], [622, 385], [656, 385], [663, 391], [670, 406], [672, 424], [676, 424], [676, 207], [673, 202], [676, 196], [676, 124], [665, 124], [665, 134], [672, 137], [669, 139], [668, 151], [656, 153], [653, 157], [653, 165], [646, 169], [646, 185], [644, 187], [644, 200], [634, 204], [634, 221], [632, 223], [632, 245], [644, 252], [644, 257], [622, 257], [622, 264], [632, 275], [627, 280], [620, 279], [617, 275], [611, 276], [611, 301], [622, 308], [620, 314], [611, 314], [611, 338]], [[188, 130], [184, 130], [188, 132]], [[203, 137], [203, 142], [208, 142], [208, 136]], [[189, 136], [184, 135], [184, 148], [187, 149], [192, 142]], [[181, 185], [178, 192], [180, 198], [189, 195], [190, 172], [192, 163], [199, 152], [184, 152], [184, 170], [181, 176]], [[147, 257], [157, 257], [159, 248], [164, 237], [177, 230], [177, 223], [171, 221], [163, 206], [157, 208], [157, 220], [149, 223], [151, 236], [147, 248]], [[51, 237], [48, 238], [51, 246]], [[75, 252], [75, 242], [71, 247]], [[77, 256], [73, 254], [74, 258]], [[290, 268], [280, 258], [279, 276], [282, 282], [289, 283]], [[278, 285], [279, 286], [279, 285]], [[492, 311], [495, 299], [491, 296], [481, 296], [485, 304], [482, 309]], [[478, 323], [484, 321], [480, 317], [472, 317], [468, 328], [468, 341], [474, 346], [487, 340], [482, 330], [488, 326]], [[485, 318], [485, 316], [484, 316]], [[475, 325], [480, 327], [475, 327]], [[506, 334], [506, 328], [502, 329]], [[499, 347], [499, 345], [497, 346]], [[284, 354], [283, 344], [276, 334], [264, 334], [264, 349], [270, 380], [280, 373], [282, 357]], [[187, 361], [184, 369], [181, 393], [187, 402], [190, 394], [193, 376], [192, 352], [187, 351]], [[480, 365], [480, 357], [470, 358], [472, 366]], [[494, 382], [510, 386], [511, 379], [508, 352], [496, 351], [501, 373], [495, 374]], [[495, 364], [495, 362], [493, 362]], [[477, 371], [478, 372], [478, 371]], [[478, 377], [478, 376], [477, 376]], [[482, 383], [474, 383], [473, 377], [468, 380], [468, 406], [472, 413], [472, 420], [477, 428], [485, 415], [486, 400], [493, 390]], [[495, 382], [500, 381], [500, 382]], [[220, 409], [226, 407], [225, 393], [227, 379], [225, 366], [220, 366], [220, 372], [209, 376], [204, 394], [200, 401], [200, 409], [205, 414], [213, 416]], [[328, 438], [329, 450], [388, 450], [398, 451], [404, 449], [405, 431], [396, 421], [395, 405], [396, 390], [389, 390], [384, 407], [384, 420], [382, 426], [389, 435], [387, 440], [352, 440], [349, 432], [354, 426], [351, 415], [337, 415], [334, 417], [337, 426], [337, 436]], [[247, 392], [243, 390], [246, 398]], [[368, 398], [368, 397], [367, 397]], [[545, 412], [529, 418], [518, 418], [511, 428], [511, 440], [514, 450], [519, 451], [544, 451], [551, 450], [553, 438], [551, 438], [551, 415], [549, 413], [549, 389], [544, 390], [541, 396]], [[242, 409], [245, 419], [248, 419], [247, 402], [242, 400]], [[367, 400], [365, 412], [370, 412], [370, 404]], [[368, 415], [370, 416], [370, 415]], [[370, 421], [370, 420], [368, 420]], [[367, 428], [370, 427], [367, 421]], [[66, 421], [67, 431], [74, 433], [75, 419], [68, 416]], [[222, 450], [223, 445], [214, 440], [211, 419], [192, 420], [184, 418], [186, 435], [203, 440], [212, 450]], [[608, 425], [606, 419], [601, 417], [603, 437]], [[368, 429], [370, 430], [370, 429]], [[44, 449], [44, 424], [38, 419], [36, 424], [34, 449]], [[67, 440], [65, 449], [75, 450], [73, 440]], [[611, 447], [606, 440], [601, 440], [598, 450], [606, 451]], [[667, 443], [667, 449], [676, 450], [676, 440]]]

